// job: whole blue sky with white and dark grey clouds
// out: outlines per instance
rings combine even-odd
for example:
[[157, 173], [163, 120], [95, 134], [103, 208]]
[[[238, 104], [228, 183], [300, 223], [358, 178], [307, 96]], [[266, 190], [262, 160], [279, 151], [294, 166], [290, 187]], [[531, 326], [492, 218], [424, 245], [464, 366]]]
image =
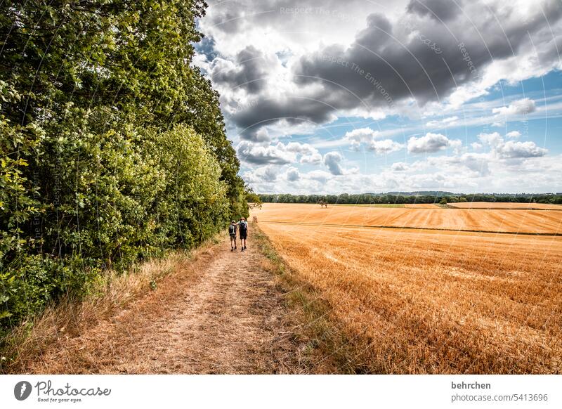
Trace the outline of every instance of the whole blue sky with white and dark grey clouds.
[[561, 0], [208, 2], [257, 192], [562, 192]]

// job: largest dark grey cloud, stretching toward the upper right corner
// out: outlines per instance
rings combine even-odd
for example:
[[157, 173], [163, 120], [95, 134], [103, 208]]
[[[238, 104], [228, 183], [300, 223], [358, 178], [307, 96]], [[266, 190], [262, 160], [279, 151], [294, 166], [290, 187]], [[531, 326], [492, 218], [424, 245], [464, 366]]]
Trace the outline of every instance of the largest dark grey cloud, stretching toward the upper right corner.
[[[560, 19], [561, 11], [553, 1], [545, 13], [554, 22]], [[384, 105], [385, 100], [373, 86], [372, 78], [395, 101], [410, 96], [421, 105], [440, 100], [456, 86], [483, 75], [482, 71], [492, 60], [516, 55], [528, 41], [528, 32], [532, 35], [545, 23], [543, 18], [542, 22], [535, 19], [519, 25], [507, 22], [502, 27], [490, 15], [483, 18], [488, 20], [481, 27], [467, 25], [466, 20], [459, 22], [461, 19], [446, 26], [420, 25], [419, 32], [424, 36], [421, 39], [429, 41], [413, 36], [400, 44], [393, 37], [394, 27], [383, 15], [370, 15], [367, 28], [358, 33], [355, 42], [343, 53], [334, 55], [334, 47], [329, 47], [301, 58], [296, 74], [302, 77], [296, 77], [296, 81], [310, 84], [320, 82], [311, 77], [327, 79], [349, 89], [348, 98], [354, 93], [374, 106]], [[436, 43], [439, 52], [428, 46], [428, 42]], [[334, 63], [334, 57], [341, 63]], [[334, 88], [334, 85], [325, 86]]]

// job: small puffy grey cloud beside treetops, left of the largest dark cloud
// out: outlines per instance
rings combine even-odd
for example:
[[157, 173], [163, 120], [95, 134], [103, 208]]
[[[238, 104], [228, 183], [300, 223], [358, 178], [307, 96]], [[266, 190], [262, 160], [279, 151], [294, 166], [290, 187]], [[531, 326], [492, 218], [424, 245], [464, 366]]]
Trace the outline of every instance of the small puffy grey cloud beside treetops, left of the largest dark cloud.
[[214, 70], [211, 78], [215, 83], [228, 84], [232, 87], [240, 87], [249, 93], [259, 93], [266, 85], [266, 77], [269, 72], [268, 62], [263, 53], [254, 46], [247, 46], [236, 56], [236, 67], [230, 70]]

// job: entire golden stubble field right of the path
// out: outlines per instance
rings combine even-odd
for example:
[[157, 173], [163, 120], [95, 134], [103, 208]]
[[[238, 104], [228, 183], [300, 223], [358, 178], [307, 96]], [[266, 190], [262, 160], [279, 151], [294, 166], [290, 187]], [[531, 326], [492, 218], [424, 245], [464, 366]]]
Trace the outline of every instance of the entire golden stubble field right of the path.
[[330, 306], [358, 370], [562, 372], [562, 237], [349, 226], [559, 233], [562, 212], [264, 204], [252, 214]]

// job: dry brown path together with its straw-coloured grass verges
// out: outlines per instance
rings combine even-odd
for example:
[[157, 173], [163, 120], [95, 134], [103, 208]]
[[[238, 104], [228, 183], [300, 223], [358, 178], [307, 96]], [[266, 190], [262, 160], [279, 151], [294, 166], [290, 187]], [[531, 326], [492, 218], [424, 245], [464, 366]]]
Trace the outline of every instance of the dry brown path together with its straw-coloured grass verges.
[[[114, 277], [98, 297], [65, 303], [20, 339], [11, 373], [336, 372], [311, 337], [325, 334], [320, 304], [282, 286], [284, 266], [257, 226], [244, 253], [216, 245], [172, 254]], [[267, 255], [267, 257], [266, 257]], [[164, 277], [164, 275], [166, 275]], [[150, 290], [156, 278], [158, 285]], [[154, 286], [152, 286], [154, 287]], [[287, 294], [288, 292], [288, 294]], [[294, 308], [288, 308], [290, 301]], [[306, 305], [303, 304], [304, 301]], [[311, 332], [311, 330], [313, 330]], [[326, 338], [324, 338], [326, 339]], [[16, 339], [13, 339], [15, 341]], [[341, 342], [339, 342], [341, 344]]]

